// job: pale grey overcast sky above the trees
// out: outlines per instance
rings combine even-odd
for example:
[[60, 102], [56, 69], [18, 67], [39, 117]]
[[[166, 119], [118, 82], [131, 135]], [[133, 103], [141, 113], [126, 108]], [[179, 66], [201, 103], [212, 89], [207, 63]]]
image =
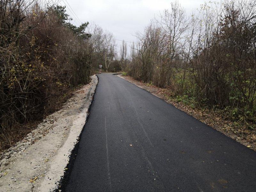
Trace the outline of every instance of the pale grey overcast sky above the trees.
[[[136, 41], [133, 36], [136, 31], [143, 31], [151, 19], [160, 11], [170, 8], [172, 0], [60, 0], [66, 5], [68, 14], [78, 25], [80, 21], [94, 22], [102, 28], [111, 31], [116, 39]], [[200, 8], [205, 0], [180, 0], [180, 4], [191, 13]], [[73, 11], [77, 17], [74, 16]], [[68, 9], [69, 8], [69, 9]], [[120, 45], [121, 41], [116, 41]], [[129, 43], [128, 43], [129, 44]], [[119, 48], [117, 48], [119, 50]]]

